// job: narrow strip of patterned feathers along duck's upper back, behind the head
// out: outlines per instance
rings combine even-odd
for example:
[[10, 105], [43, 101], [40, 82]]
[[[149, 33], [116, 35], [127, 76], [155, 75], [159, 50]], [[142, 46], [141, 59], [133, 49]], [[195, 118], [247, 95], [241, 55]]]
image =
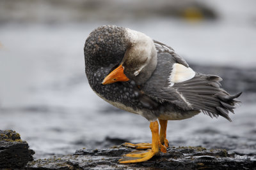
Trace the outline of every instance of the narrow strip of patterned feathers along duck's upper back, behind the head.
[[156, 40], [153, 41], [156, 46], [157, 53], [169, 53], [170, 55], [172, 55], [173, 59], [175, 59], [177, 63], [189, 67], [186, 60], [183, 57], [180, 57], [180, 55], [178, 55], [177, 53], [175, 53], [171, 46], [165, 45], [164, 43], [161, 43]]

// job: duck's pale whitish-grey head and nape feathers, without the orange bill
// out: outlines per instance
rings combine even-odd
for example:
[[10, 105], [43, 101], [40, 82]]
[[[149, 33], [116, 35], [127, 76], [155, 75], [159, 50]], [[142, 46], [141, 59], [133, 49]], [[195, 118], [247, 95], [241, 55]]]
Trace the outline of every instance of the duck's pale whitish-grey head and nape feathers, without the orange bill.
[[138, 85], [150, 78], [157, 64], [157, 52], [154, 41], [145, 34], [126, 29], [129, 46], [122, 64], [125, 75]]

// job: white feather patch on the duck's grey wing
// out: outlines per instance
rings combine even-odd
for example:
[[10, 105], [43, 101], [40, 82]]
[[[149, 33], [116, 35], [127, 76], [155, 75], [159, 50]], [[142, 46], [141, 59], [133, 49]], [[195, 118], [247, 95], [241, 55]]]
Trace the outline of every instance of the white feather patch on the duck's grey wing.
[[171, 87], [174, 83], [189, 80], [195, 76], [195, 71], [191, 67], [183, 66], [182, 64], [175, 63], [172, 66], [172, 73], [169, 77]]

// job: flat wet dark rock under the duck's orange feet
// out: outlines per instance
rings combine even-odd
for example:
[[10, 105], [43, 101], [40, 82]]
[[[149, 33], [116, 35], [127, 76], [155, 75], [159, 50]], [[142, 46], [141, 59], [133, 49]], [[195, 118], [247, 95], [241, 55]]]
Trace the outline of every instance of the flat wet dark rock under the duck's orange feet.
[[253, 169], [255, 155], [236, 155], [226, 150], [202, 147], [168, 148], [147, 162], [118, 164], [122, 155], [134, 149], [114, 146], [108, 149], [83, 148], [73, 155], [63, 155], [29, 162], [28, 169]]

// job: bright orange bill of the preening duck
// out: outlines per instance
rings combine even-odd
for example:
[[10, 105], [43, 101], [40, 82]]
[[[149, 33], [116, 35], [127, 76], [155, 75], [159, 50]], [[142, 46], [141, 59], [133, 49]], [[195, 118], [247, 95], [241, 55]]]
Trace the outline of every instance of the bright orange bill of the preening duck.
[[106, 76], [106, 78], [104, 78], [104, 80], [102, 81], [102, 85], [115, 83], [117, 81], [128, 81], [128, 80], [129, 78], [125, 76], [124, 67], [121, 64], [116, 69], [114, 69], [111, 73], [109, 73], [108, 76]]

